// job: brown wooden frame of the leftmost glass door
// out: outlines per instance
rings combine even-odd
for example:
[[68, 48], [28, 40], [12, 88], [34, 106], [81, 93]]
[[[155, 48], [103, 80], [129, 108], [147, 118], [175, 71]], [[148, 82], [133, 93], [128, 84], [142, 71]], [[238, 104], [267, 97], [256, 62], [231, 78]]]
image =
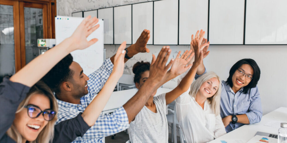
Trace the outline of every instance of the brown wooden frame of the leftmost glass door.
[[13, 6], [15, 72], [18, 72], [21, 69], [19, 1], [1, 0], [0, 4]]

